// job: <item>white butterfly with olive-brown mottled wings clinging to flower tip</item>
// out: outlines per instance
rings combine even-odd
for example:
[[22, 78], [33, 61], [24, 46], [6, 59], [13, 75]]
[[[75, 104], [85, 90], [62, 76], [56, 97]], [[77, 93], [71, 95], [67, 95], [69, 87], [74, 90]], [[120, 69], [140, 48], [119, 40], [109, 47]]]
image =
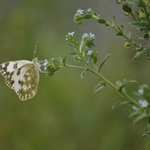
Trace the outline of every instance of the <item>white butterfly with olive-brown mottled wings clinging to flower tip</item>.
[[6, 85], [15, 90], [18, 97], [24, 101], [33, 98], [37, 93], [40, 67], [37, 58], [32, 61], [8, 61], [0, 65], [0, 72]]

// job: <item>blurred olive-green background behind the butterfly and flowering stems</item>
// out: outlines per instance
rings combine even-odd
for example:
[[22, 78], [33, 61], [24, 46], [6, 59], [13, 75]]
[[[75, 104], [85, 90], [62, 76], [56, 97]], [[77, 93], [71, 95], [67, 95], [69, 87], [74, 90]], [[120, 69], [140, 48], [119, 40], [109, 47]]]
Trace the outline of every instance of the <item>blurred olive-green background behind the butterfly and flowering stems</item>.
[[[92, 8], [110, 22], [115, 15], [117, 24], [127, 25], [129, 19], [123, 16], [121, 5], [112, 0], [1, 0], [0, 62], [32, 60], [36, 41], [38, 57], [63, 57], [72, 51], [65, 42], [68, 32], [76, 31], [79, 37], [92, 32], [99, 59], [112, 54], [103, 75], [113, 83], [126, 78], [149, 84], [147, 58], [133, 62], [134, 52], [125, 50], [123, 39], [95, 20], [77, 26], [73, 16], [79, 8]], [[127, 33], [129, 30], [126, 27]], [[67, 61], [74, 63], [70, 58]], [[98, 79], [89, 73], [81, 79], [80, 73], [65, 68], [50, 78], [41, 74], [37, 95], [25, 102], [5, 85], [1, 76], [0, 150], [143, 149], [148, 140], [141, 137], [146, 120], [133, 125], [128, 117], [131, 106], [111, 108], [115, 102], [123, 101], [122, 97], [109, 88], [93, 94]], [[137, 89], [134, 84], [127, 91], [131, 94]]]

